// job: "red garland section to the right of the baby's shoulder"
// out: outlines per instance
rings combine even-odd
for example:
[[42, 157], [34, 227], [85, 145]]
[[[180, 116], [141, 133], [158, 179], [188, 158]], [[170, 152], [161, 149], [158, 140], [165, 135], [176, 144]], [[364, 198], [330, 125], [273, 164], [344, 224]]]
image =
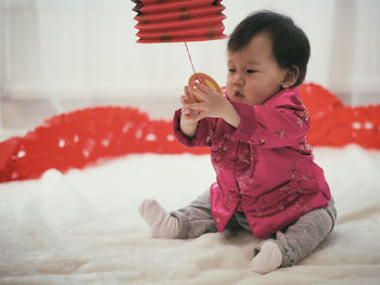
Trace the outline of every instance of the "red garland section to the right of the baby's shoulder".
[[350, 143], [380, 150], [380, 104], [344, 106], [320, 86], [300, 87], [312, 126], [307, 140], [312, 145], [344, 146]]

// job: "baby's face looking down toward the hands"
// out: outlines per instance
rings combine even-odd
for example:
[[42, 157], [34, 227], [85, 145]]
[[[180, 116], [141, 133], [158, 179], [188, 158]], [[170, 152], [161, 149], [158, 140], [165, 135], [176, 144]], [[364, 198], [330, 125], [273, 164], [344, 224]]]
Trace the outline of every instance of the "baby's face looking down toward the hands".
[[286, 76], [265, 34], [255, 36], [241, 51], [228, 51], [227, 65], [227, 95], [232, 101], [251, 105], [259, 105], [280, 91]]

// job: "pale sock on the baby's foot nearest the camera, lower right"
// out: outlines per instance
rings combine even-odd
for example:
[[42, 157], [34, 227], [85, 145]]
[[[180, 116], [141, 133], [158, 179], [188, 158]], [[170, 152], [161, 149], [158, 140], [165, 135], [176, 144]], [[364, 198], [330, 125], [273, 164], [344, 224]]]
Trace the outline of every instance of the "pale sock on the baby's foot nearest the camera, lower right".
[[282, 262], [281, 250], [274, 242], [265, 242], [257, 256], [248, 265], [248, 269], [257, 273], [269, 273], [278, 269]]

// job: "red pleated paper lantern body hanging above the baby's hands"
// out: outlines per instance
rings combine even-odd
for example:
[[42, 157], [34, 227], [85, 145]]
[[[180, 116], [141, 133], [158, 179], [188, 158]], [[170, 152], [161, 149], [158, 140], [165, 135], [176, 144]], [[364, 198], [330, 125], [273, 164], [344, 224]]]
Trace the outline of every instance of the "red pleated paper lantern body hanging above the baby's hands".
[[137, 42], [223, 39], [221, 0], [131, 0], [138, 24]]

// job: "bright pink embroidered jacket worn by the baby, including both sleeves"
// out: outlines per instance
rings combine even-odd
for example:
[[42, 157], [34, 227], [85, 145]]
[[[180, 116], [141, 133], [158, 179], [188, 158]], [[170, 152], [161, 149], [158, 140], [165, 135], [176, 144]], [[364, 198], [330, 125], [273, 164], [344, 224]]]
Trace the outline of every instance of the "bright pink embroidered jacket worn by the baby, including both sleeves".
[[296, 88], [282, 90], [262, 105], [231, 102], [238, 128], [204, 118], [193, 139], [174, 132], [186, 146], [211, 146], [217, 182], [211, 186], [212, 215], [221, 232], [235, 211], [244, 211], [252, 233], [264, 238], [331, 199], [324, 171], [314, 161], [305, 135], [307, 109]]

